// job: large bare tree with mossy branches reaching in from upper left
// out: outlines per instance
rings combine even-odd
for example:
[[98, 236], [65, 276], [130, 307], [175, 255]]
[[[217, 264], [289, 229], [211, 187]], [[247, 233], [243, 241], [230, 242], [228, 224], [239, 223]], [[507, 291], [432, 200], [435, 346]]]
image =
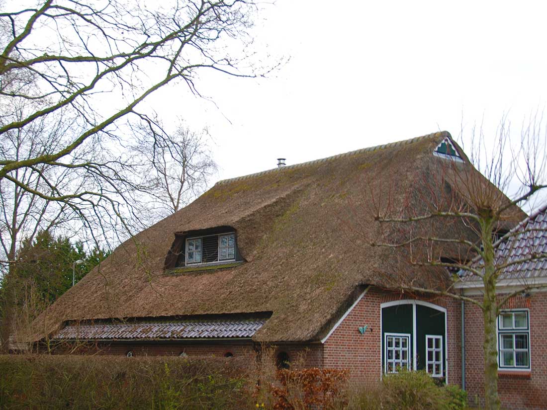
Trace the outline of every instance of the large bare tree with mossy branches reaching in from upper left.
[[[243, 0], [173, 0], [157, 10], [138, 1], [46, 0], [37, 8], [0, 13], [0, 138], [55, 116], [75, 119], [55, 149], [5, 151], [0, 181], [72, 209], [94, 235], [108, 237], [112, 224], [132, 231], [128, 221], [139, 216], [135, 192], [144, 187], [133, 178], [142, 163], [127, 147], [132, 127], [151, 121], [139, 103], [181, 82], [199, 95], [195, 79], [201, 70], [258, 75], [247, 50], [256, 10]], [[153, 144], [177, 150], [176, 141], [159, 140], [165, 135], [155, 133]], [[70, 169], [74, 183], [57, 185], [50, 179], [54, 168]], [[42, 185], [22, 178], [27, 169]]]

